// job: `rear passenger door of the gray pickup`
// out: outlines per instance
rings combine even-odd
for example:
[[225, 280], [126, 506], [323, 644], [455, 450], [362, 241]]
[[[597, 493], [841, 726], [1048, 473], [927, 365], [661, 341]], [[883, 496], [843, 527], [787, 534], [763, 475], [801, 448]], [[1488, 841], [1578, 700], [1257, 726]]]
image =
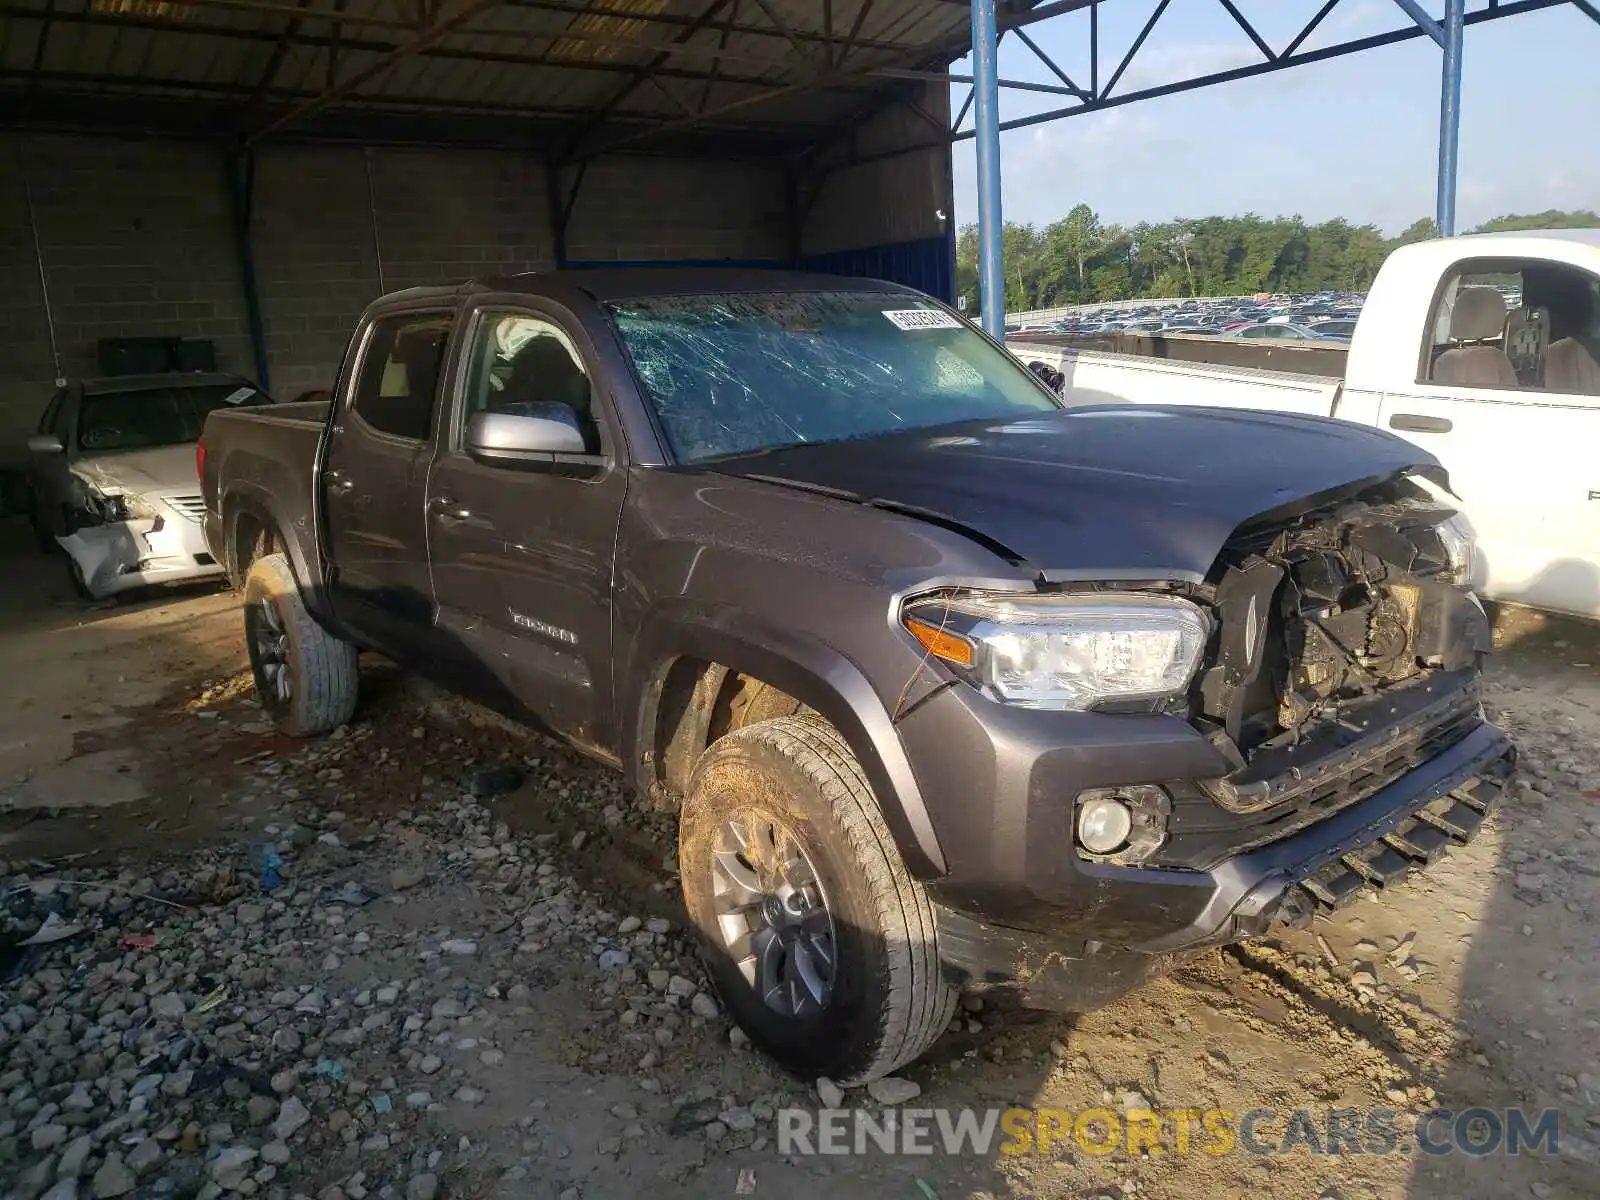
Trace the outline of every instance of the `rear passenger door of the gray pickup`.
[[411, 658], [432, 626], [424, 488], [453, 312], [384, 312], [338, 397], [320, 477], [330, 600], [360, 640]]

